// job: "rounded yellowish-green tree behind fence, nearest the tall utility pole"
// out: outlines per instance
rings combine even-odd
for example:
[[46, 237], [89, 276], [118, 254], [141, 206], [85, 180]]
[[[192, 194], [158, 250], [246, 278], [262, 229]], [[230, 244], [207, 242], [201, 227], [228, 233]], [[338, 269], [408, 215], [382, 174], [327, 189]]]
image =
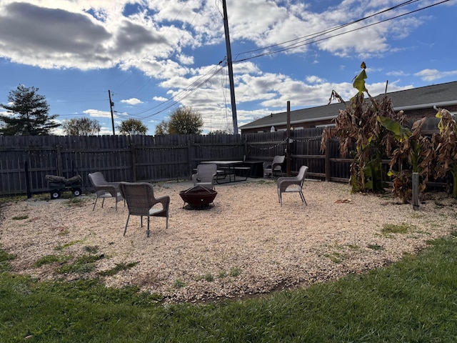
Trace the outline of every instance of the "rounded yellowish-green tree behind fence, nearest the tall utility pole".
[[168, 122], [161, 121], [156, 127], [156, 134], [201, 134], [203, 125], [199, 112], [189, 106], [182, 106], [170, 115]]

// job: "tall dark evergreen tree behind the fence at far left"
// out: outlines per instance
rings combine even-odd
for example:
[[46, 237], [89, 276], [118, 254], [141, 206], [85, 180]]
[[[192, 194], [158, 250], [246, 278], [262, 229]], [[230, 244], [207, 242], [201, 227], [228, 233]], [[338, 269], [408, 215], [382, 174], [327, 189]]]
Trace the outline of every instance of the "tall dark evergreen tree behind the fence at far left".
[[0, 121], [4, 122], [0, 134], [39, 136], [49, 134], [51, 129], [60, 126], [54, 121], [57, 114], [49, 115], [45, 96], [37, 92], [38, 88], [27, 88], [23, 84], [9, 92], [9, 104], [0, 104], [0, 107], [12, 115], [0, 115]]

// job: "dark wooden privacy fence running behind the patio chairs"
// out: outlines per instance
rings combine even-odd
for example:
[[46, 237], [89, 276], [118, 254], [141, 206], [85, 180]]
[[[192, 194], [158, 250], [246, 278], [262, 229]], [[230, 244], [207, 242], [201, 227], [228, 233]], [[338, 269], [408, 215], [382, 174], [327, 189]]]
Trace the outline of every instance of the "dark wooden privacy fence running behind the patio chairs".
[[103, 172], [108, 181], [159, 182], [190, 179], [209, 160], [271, 161], [289, 154], [290, 171], [309, 167], [309, 177], [348, 181], [351, 159], [341, 159], [338, 140], [321, 151], [323, 129], [228, 135], [166, 136], [0, 136], [0, 195], [49, 191], [46, 175]]

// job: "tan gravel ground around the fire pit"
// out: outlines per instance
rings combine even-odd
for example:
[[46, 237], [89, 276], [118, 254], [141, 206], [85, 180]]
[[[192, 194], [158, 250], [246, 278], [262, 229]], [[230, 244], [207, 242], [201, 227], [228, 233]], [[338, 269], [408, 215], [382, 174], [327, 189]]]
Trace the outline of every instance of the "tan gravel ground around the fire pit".
[[[16, 254], [14, 273], [39, 279], [77, 279], [137, 262], [112, 276], [107, 286], [136, 285], [161, 294], [164, 302], [203, 302], [306, 287], [349, 273], [361, 273], [423, 249], [429, 239], [456, 229], [456, 202], [426, 194], [418, 211], [390, 195], [351, 194], [347, 184], [307, 181], [302, 204], [276, 183], [239, 182], [216, 187], [214, 207], [183, 208], [179, 191], [189, 182], [154, 184], [171, 197], [169, 229], [151, 219], [151, 237], [127, 209], [106, 199], [95, 211], [94, 195], [52, 201], [29, 199], [1, 209], [0, 244]], [[75, 201], [76, 200], [76, 201]], [[21, 219], [21, 217], [26, 217]], [[407, 232], [385, 233], [389, 224]], [[35, 267], [42, 257], [102, 257], [92, 272], [56, 274], [62, 263]]]

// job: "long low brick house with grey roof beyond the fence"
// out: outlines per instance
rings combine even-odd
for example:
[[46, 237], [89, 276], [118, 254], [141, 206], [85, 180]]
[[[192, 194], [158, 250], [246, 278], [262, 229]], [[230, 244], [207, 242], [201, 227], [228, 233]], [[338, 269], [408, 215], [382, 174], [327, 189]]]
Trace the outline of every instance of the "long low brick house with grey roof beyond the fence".
[[[383, 96], [380, 94], [378, 96]], [[403, 110], [408, 119], [420, 119], [423, 116], [434, 117], [436, 108], [445, 108], [452, 114], [457, 114], [457, 81], [446, 84], [435, 84], [404, 91], [387, 93], [392, 99], [395, 111]], [[297, 109], [291, 111], [291, 128], [305, 129], [308, 127], [333, 126], [334, 119], [344, 104], [329, 104]], [[240, 126], [241, 134], [256, 132], [281, 131], [287, 127], [287, 112], [264, 116], [246, 125]]]

